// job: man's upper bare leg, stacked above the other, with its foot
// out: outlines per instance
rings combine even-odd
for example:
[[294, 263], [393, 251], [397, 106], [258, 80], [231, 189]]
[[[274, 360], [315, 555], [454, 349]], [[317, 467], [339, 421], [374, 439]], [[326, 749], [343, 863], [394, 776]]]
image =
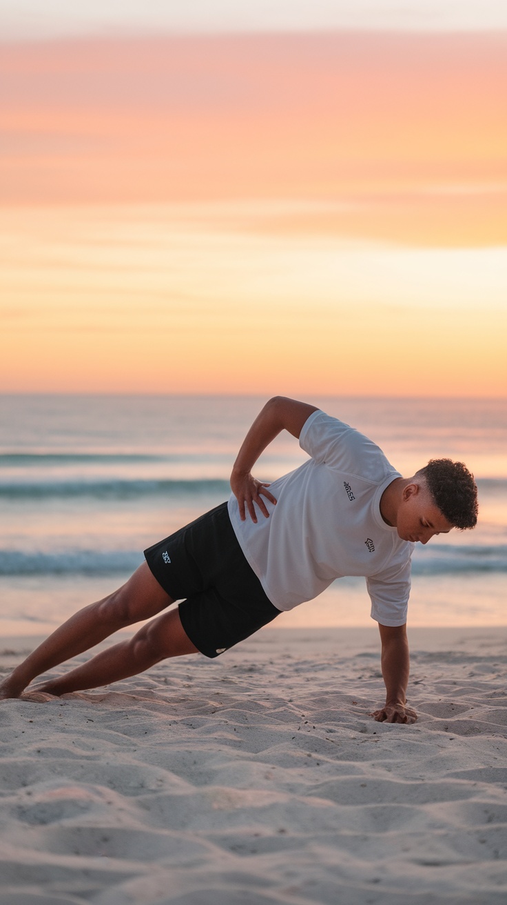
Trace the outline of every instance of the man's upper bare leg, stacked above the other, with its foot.
[[2, 682], [0, 699], [18, 698], [23, 689], [42, 672], [51, 670], [78, 653], [88, 651], [120, 628], [149, 619], [172, 603], [172, 598], [158, 584], [146, 563], [143, 563], [125, 585], [103, 600], [85, 606], [79, 613], [70, 616], [66, 623], [42, 642]]

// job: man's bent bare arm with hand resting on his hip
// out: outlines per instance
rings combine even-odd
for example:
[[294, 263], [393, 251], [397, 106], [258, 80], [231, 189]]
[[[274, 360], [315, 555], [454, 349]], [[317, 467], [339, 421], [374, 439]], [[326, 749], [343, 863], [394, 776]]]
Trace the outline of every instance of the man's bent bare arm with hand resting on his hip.
[[230, 487], [239, 503], [241, 521], [246, 519], [248, 510], [252, 521], [257, 522], [254, 502], [258, 504], [259, 510], [268, 519], [269, 513], [262, 496], [272, 503], [277, 502], [267, 490], [268, 483], [257, 481], [251, 474], [261, 452], [264, 452], [269, 443], [283, 430], [298, 438], [305, 421], [316, 411], [315, 405], [297, 402], [296, 399], [287, 399], [286, 396], [274, 396], [258, 414], [241, 444], [230, 475]]

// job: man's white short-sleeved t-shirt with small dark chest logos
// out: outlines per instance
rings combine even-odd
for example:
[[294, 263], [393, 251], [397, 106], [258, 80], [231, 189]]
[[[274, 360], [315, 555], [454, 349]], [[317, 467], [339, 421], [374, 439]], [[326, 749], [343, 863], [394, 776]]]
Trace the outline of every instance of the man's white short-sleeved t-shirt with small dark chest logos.
[[268, 519], [258, 510], [257, 524], [248, 514], [241, 521], [238, 500], [229, 500], [239, 546], [269, 600], [291, 610], [335, 578], [365, 576], [371, 618], [404, 624], [414, 544], [380, 515], [380, 497], [399, 472], [375, 443], [320, 410], [299, 443], [311, 459], [270, 484], [277, 505], [264, 498]]

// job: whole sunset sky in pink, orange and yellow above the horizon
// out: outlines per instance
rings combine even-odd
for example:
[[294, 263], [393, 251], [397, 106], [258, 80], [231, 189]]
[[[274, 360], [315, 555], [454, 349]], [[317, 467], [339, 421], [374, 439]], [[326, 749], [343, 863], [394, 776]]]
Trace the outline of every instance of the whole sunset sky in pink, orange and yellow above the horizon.
[[144, 6], [0, 0], [0, 392], [507, 395], [505, 5]]

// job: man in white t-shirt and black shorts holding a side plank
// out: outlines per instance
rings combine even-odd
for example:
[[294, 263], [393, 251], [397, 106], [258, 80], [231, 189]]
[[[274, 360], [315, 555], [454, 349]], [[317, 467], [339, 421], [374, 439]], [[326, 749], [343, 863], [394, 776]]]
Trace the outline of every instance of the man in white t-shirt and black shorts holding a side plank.
[[[282, 430], [310, 459], [272, 484], [251, 474]], [[232, 496], [145, 552], [127, 584], [91, 604], [43, 642], [0, 685], [19, 697], [37, 675], [149, 619], [136, 635], [34, 691], [61, 695], [143, 672], [156, 662], [232, 644], [320, 594], [334, 578], [366, 577], [379, 623], [386, 702], [371, 716], [417, 719], [407, 706], [406, 632], [414, 544], [453, 528], [474, 528], [477, 491], [461, 462], [432, 460], [402, 478], [381, 450], [315, 405], [277, 396], [252, 424], [234, 464]]]

